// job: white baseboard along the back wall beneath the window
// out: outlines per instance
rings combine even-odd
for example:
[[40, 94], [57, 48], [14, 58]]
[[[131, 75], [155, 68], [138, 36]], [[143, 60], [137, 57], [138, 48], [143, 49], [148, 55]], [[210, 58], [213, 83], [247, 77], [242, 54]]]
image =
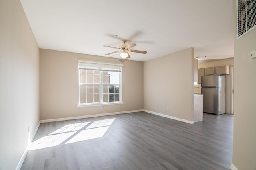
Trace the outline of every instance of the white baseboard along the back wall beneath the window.
[[47, 122], [53, 122], [53, 121], [64, 121], [64, 120], [74, 120], [74, 119], [84, 119], [89, 117], [99, 117], [99, 116], [108, 116], [108, 115], [118, 115], [123, 113], [132, 113], [132, 112], [139, 112], [143, 110], [132, 110], [132, 111], [121, 111], [121, 112], [114, 112], [114, 113], [102, 113], [97, 115], [84, 115], [84, 116], [76, 116], [76, 117], [65, 117], [65, 118], [58, 118], [58, 119], [46, 119], [46, 120], [40, 120], [40, 123], [47, 123]]

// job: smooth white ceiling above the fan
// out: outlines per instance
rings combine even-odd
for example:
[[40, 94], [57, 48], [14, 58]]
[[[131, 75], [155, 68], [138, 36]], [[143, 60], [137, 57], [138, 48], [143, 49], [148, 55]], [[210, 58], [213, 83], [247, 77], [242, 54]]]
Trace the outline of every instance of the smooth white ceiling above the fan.
[[127, 39], [148, 51], [136, 61], [189, 47], [201, 61], [233, 57], [232, 0], [20, 1], [42, 49], [106, 56]]

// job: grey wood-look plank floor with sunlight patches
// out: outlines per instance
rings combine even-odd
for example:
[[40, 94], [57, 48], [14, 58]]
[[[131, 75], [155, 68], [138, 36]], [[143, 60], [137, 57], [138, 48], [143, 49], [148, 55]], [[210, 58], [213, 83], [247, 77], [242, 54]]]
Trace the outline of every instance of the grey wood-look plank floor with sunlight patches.
[[[106, 132], [88, 139], [97, 129]], [[233, 116], [204, 113], [190, 125], [137, 112], [40, 124], [34, 141], [51, 138], [60, 144], [28, 151], [21, 170], [229, 170]]]

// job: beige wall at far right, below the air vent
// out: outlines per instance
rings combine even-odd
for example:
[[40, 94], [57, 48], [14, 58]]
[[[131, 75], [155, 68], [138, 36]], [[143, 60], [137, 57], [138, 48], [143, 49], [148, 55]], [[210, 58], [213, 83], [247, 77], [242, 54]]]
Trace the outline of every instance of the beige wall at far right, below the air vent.
[[[234, 23], [236, 23], [236, 0]], [[232, 164], [238, 170], [256, 170], [256, 28], [236, 38], [234, 27], [234, 143]]]

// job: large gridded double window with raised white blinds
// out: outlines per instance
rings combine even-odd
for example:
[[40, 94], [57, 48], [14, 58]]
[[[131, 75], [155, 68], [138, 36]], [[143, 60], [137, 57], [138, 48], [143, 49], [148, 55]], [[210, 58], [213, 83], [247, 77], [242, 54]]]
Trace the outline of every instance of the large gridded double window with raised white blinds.
[[122, 64], [78, 61], [79, 104], [102, 105], [122, 102]]

